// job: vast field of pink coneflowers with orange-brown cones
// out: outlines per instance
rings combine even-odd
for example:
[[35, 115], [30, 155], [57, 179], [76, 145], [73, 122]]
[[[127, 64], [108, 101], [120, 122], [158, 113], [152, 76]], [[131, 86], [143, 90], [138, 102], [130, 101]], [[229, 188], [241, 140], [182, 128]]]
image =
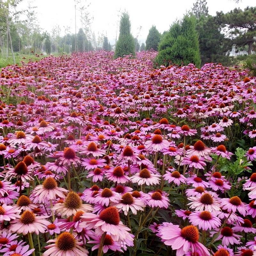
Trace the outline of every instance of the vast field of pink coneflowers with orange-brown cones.
[[2, 69], [0, 255], [255, 255], [255, 79], [156, 54]]

